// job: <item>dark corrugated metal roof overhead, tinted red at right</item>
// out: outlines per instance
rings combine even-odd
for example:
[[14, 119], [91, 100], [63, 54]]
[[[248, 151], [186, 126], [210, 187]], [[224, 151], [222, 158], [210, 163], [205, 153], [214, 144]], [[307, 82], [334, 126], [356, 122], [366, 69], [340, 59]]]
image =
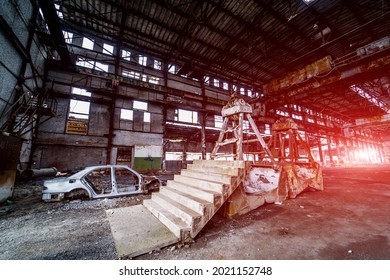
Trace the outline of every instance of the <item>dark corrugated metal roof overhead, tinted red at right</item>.
[[[140, 53], [254, 89], [325, 56], [340, 58], [390, 35], [390, 1], [317, 0], [309, 5], [301, 0], [56, 3], [67, 28], [113, 42], [121, 37], [124, 46]], [[382, 94], [375, 93], [378, 89], [373, 91], [390, 107], [388, 87]], [[359, 111], [359, 103], [350, 101], [345, 106], [341, 100], [349, 100], [345, 93], [333, 92], [327, 98], [334, 104], [316, 105], [340, 114]], [[298, 98], [295, 101], [307, 103]]]

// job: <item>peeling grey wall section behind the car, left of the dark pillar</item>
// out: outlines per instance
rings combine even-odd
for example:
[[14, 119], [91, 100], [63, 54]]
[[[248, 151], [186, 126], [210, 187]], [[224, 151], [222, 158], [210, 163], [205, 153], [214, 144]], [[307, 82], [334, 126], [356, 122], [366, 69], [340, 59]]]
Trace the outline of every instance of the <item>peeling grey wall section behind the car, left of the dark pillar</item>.
[[34, 152], [34, 168], [77, 170], [107, 163], [108, 107], [91, 104], [87, 135], [66, 133], [70, 100], [58, 98], [57, 116], [40, 125]]

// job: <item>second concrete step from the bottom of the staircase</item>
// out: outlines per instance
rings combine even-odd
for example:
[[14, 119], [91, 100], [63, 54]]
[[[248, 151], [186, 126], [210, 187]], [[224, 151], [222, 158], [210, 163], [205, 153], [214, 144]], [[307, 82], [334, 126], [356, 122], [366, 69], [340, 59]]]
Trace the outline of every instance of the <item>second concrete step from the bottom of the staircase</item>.
[[157, 192], [152, 194], [153, 201], [160, 204], [162, 207], [167, 209], [169, 212], [183, 219], [189, 225], [196, 225], [202, 219], [202, 215], [195, 212], [194, 210], [186, 207], [183, 204], [167, 197], [166, 195]]

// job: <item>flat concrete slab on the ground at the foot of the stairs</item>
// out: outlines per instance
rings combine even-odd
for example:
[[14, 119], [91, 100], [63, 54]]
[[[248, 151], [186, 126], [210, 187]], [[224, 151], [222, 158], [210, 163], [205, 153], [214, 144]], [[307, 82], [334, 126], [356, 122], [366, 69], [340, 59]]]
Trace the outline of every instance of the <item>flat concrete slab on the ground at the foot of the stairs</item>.
[[132, 258], [179, 239], [143, 205], [106, 210], [117, 256]]

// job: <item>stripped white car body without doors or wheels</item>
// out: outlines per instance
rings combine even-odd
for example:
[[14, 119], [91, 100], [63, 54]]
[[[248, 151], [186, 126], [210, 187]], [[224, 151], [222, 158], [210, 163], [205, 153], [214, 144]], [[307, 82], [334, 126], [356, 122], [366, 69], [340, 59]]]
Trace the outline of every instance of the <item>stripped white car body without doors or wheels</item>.
[[91, 166], [69, 177], [46, 180], [42, 200], [108, 198], [146, 194], [158, 190], [160, 180], [144, 176], [125, 165]]

